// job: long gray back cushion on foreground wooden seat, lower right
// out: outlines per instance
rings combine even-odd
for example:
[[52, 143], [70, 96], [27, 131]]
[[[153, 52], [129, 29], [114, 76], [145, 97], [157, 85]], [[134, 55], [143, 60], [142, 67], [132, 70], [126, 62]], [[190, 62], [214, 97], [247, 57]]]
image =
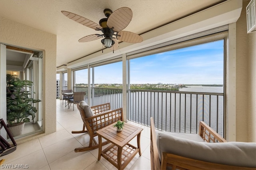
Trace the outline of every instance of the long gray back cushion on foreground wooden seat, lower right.
[[159, 153], [167, 152], [217, 164], [256, 168], [256, 143], [207, 143], [158, 133]]

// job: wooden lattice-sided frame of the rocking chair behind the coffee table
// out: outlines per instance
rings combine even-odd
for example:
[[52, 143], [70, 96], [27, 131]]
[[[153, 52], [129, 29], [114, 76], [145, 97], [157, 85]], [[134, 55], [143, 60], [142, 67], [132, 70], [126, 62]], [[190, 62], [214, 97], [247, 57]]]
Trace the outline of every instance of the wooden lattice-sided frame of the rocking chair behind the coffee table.
[[[82, 101], [84, 102], [84, 101]], [[80, 102], [81, 104], [81, 102]], [[92, 106], [90, 109], [93, 112], [91, 117], [86, 117], [85, 109], [76, 105], [80, 111], [81, 118], [84, 122], [82, 131], [72, 131], [72, 133], [88, 133], [90, 135], [90, 142], [88, 147], [76, 148], [75, 152], [84, 152], [87, 150], [96, 149], [99, 147], [98, 143], [94, 139], [97, 136], [96, 131], [102, 129], [118, 120], [123, 120], [123, 109], [110, 110], [110, 103]], [[94, 145], [93, 145], [93, 143]], [[108, 144], [108, 141], [102, 143], [102, 146]]]

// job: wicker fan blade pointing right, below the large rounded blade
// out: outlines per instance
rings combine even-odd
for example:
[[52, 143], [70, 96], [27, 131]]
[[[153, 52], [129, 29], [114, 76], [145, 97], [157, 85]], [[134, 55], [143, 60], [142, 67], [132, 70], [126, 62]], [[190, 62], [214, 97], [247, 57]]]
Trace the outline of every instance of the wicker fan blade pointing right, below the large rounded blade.
[[128, 43], [140, 43], [143, 41], [143, 38], [140, 35], [132, 33], [130, 31], [120, 31], [119, 33], [117, 33], [116, 38], [120, 41]]

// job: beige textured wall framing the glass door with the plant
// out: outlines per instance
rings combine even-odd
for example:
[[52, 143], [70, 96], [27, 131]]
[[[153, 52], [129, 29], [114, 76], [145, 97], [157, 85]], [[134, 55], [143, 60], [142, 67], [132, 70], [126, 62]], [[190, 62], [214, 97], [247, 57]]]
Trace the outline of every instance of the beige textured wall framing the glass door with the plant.
[[0, 42], [43, 51], [43, 128], [45, 134], [55, 132], [56, 35], [0, 17]]

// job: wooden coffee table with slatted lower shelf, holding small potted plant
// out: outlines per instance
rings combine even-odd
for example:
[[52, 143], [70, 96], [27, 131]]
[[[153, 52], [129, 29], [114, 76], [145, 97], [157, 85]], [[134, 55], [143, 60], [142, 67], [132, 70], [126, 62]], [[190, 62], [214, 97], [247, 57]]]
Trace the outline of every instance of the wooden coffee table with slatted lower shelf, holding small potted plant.
[[[117, 132], [116, 127], [113, 127], [114, 124], [115, 123], [96, 131], [99, 139], [98, 160], [103, 156], [108, 162], [118, 168], [118, 170], [121, 170], [129, 164], [138, 152], [141, 156], [140, 133], [143, 129], [124, 123], [123, 130]], [[129, 144], [129, 142], [136, 136], [137, 147]], [[112, 143], [112, 145], [104, 150], [102, 150], [102, 137]]]

